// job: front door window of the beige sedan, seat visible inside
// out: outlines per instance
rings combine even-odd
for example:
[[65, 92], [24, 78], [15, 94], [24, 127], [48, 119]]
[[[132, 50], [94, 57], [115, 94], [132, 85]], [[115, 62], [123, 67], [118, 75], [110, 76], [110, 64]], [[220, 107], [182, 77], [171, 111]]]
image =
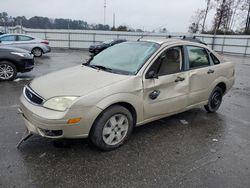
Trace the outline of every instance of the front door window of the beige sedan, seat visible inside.
[[182, 65], [181, 47], [173, 47], [164, 51], [156, 60], [159, 65], [159, 76], [178, 73]]

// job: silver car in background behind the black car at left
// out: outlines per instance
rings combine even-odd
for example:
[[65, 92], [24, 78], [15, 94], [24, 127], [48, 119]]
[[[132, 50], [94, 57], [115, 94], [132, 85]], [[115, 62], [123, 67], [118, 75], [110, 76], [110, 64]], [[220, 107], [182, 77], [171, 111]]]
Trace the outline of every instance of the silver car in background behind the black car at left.
[[41, 57], [43, 54], [51, 51], [49, 41], [24, 34], [0, 35], [0, 43], [1, 45], [28, 50], [35, 57]]

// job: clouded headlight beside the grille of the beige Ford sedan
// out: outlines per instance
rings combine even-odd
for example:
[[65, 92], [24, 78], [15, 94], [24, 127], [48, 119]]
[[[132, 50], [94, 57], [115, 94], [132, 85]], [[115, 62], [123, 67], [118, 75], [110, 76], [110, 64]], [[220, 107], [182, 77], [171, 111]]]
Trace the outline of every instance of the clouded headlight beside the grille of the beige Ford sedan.
[[43, 107], [56, 111], [65, 111], [76, 100], [74, 96], [54, 97], [43, 104]]

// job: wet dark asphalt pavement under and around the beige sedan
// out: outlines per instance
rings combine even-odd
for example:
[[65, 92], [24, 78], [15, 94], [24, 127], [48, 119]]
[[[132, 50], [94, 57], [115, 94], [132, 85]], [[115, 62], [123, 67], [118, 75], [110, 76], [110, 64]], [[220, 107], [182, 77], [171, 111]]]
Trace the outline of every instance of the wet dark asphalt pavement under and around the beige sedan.
[[[250, 58], [220, 110], [194, 109], [134, 130], [121, 148], [101, 152], [88, 139], [52, 141], [25, 130], [17, 114], [29, 79], [80, 64], [88, 53], [54, 50], [30, 73], [0, 83], [0, 187], [250, 187]], [[185, 121], [183, 121], [185, 120]]]

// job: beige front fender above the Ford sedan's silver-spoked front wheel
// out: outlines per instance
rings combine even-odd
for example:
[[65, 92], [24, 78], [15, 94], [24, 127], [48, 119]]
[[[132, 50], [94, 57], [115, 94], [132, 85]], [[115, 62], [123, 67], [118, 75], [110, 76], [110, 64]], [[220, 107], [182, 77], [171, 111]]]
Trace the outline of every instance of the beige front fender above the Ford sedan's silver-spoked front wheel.
[[140, 77], [131, 76], [126, 80], [82, 96], [73, 104], [72, 108], [96, 106], [103, 111], [117, 103], [132, 105], [136, 110], [137, 122], [143, 120], [142, 80]]

